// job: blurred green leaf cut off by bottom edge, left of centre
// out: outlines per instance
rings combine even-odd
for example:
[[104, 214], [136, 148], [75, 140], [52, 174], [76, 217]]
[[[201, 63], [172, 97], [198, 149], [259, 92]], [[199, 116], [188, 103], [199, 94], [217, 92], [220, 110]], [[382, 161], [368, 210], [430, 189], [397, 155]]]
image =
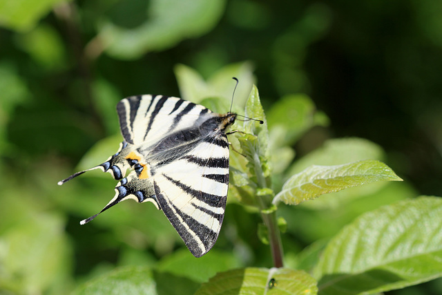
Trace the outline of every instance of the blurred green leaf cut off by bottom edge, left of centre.
[[86, 294], [157, 294], [153, 274], [148, 267], [118, 267], [112, 272], [80, 285], [73, 292]]

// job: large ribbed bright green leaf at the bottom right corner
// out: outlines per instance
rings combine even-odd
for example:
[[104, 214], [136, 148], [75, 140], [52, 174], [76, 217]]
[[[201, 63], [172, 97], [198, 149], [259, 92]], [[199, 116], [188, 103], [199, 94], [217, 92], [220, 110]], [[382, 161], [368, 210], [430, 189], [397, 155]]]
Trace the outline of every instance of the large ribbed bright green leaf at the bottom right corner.
[[442, 199], [421, 197], [365, 213], [327, 245], [320, 294], [372, 294], [442, 276]]

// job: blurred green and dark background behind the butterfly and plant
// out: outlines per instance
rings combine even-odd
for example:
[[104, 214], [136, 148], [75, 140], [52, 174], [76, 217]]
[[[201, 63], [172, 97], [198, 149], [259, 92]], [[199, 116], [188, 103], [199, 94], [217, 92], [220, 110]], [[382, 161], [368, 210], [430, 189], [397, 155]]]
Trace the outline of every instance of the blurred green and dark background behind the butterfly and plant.
[[[171, 261], [193, 259], [150, 204], [119, 204], [80, 227], [112, 198], [109, 175], [57, 186], [100, 140], [111, 150], [99, 161], [115, 153], [119, 99], [189, 98], [180, 64], [212, 82], [224, 69], [228, 88], [207, 96], [229, 98], [231, 73], [254, 81], [265, 111], [284, 95], [311, 97], [330, 125], [294, 144], [297, 159], [329, 138], [363, 137], [382, 146], [404, 195], [442, 196], [441, 15], [430, 0], [0, 0], [0, 294], [63, 294], [116, 265], [152, 265], [161, 280]], [[259, 216], [235, 202], [226, 212], [206, 263], [270, 267]], [[329, 231], [333, 213], [308, 214], [287, 218], [287, 259], [351, 220]], [[305, 221], [315, 218], [324, 220]]]

